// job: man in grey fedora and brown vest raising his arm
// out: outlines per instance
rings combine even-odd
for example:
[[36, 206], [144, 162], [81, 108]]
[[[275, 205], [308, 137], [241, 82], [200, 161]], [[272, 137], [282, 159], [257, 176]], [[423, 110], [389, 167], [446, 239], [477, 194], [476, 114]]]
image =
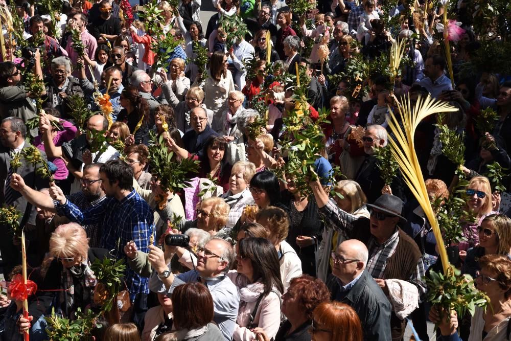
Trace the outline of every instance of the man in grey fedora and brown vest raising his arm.
[[[366, 270], [387, 297], [389, 289], [385, 280], [406, 281], [416, 286], [420, 296], [426, 293], [422, 280], [424, 264], [419, 247], [398, 225], [406, 222], [401, 216], [403, 201], [399, 197], [383, 194], [373, 204], [367, 204], [371, 208], [370, 219], [367, 219], [337, 207], [319, 181], [311, 181], [310, 186], [327, 228], [335, 229], [344, 239], [358, 239], [367, 246], [369, 257]], [[390, 327], [392, 340], [401, 340], [405, 322], [394, 312], [391, 314]]]

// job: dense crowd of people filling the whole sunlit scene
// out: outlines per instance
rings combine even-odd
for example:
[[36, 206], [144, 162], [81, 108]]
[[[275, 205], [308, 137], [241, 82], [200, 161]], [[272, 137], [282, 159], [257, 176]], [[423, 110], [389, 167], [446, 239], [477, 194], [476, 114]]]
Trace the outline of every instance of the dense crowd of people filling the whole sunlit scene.
[[[423, 341], [433, 337], [428, 321], [444, 340], [509, 339], [511, 81], [483, 70], [462, 77], [485, 39], [468, 2], [449, 8], [459, 39], [446, 62], [437, 31], [445, 3], [324, 0], [304, 14], [294, 10], [302, 0], [286, 1], [213, 0], [218, 13], [206, 23], [200, 0], [163, 0], [161, 21], [149, 25], [143, 0], [132, 8], [126, 0], [55, 0], [57, 16], [42, 3], [0, 0], [0, 203], [20, 212], [37, 284], [24, 317], [11, 295], [22, 274], [20, 241], [3, 221], [0, 339], [48, 339], [52, 310], [75, 321], [98, 309], [91, 265], [105, 258], [126, 265], [125, 292], [114, 318], [98, 319], [102, 328], [79, 339], [398, 341], [407, 321]], [[30, 48], [13, 42], [6, 12], [24, 23]], [[237, 18], [247, 34], [233, 41], [223, 23]], [[168, 69], [157, 66], [154, 41], [163, 37], [151, 25], [180, 39]], [[393, 83], [376, 72], [354, 88], [355, 61], [379, 60], [403, 39], [409, 62]], [[303, 105], [290, 77], [298, 70], [310, 116], [303, 125], [330, 110], [307, 188], [280, 171], [289, 162], [287, 117]], [[44, 82], [38, 93], [33, 78]], [[98, 95], [108, 95], [111, 112]], [[387, 184], [375, 156], [394, 138], [390, 110], [428, 95], [458, 109], [438, 123], [462, 136], [464, 165], [443, 153], [434, 116], [419, 125], [415, 149], [432, 205], [460, 192], [460, 173], [468, 179], [463, 238], [447, 247], [491, 299], [471, 318], [427, 302], [425, 276], [440, 268], [437, 240], [401, 173]], [[95, 112], [86, 120], [77, 98]], [[495, 119], [481, 125], [488, 108]], [[161, 187], [152, 136], [172, 160], [199, 163], [186, 186]], [[33, 146], [41, 163], [22, 157], [13, 167], [15, 153]], [[342, 177], [332, 177], [336, 167]]]

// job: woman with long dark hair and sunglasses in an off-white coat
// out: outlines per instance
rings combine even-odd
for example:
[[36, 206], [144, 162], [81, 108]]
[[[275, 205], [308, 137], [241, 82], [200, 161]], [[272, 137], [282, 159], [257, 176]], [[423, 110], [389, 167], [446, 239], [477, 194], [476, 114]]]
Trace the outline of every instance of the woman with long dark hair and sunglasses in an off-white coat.
[[214, 131], [222, 131], [222, 113], [227, 109], [228, 94], [235, 90], [233, 75], [227, 70], [227, 56], [225, 53], [216, 51], [210, 59], [210, 70], [207, 71], [207, 79], [199, 85], [204, 90], [204, 104], [213, 110], [213, 122], [211, 128]]

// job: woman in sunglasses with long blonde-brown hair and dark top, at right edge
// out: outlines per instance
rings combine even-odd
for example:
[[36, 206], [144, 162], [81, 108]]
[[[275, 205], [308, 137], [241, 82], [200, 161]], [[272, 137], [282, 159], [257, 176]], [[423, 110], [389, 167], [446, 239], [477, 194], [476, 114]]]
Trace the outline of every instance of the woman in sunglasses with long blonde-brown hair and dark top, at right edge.
[[467, 251], [461, 271], [472, 277], [479, 270], [477, 261], [484, 255], [509, 256], [511, 251], [511, 218], [503, 214], [489, 214], [477, 226], [479, 245]]

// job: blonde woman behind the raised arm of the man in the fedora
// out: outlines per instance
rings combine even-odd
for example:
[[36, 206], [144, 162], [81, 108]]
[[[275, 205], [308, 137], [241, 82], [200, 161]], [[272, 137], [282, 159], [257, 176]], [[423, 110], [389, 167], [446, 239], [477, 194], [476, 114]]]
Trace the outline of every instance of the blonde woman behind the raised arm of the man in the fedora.
[[[365, 206], [367, 199], [360, 185], [353, 180], [341, 180], [332, 189], [333, 198], [337, 206], [347, 213], [357, 217], [369, 219], [369, 211]], [[337, 195], [343, 196], [341, 198]], [[317, 278], [323, 282], [327, 281], [332, 273], [333, 260], [330, 254], [337, 249], [337, 246], [344, 241], [344, 238], [335, 229], [324, 228], [323, 239], [319, 246], [318, 260], [316, 265]]]

